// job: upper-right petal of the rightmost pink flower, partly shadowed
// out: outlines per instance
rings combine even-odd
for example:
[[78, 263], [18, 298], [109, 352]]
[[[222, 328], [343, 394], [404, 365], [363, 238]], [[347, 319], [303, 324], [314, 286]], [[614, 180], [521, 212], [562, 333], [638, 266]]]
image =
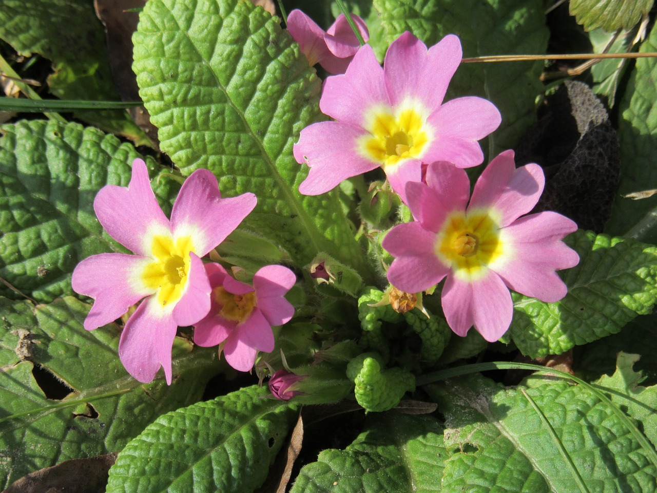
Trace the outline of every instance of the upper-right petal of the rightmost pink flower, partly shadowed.
[[501, 215], [504, 227], [527, 214], [543, 193], [545, 177], [537, 164], [527, 164], [516, 170], [513, 151], [505, 151], [493, 159], [474, 185], [468, 210], [494, 209]]

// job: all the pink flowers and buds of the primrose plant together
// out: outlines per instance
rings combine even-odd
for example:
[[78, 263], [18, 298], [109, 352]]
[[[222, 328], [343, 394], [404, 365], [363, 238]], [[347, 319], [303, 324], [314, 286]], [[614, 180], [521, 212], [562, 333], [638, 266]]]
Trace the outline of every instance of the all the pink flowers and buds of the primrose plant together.
[[[353, 21], [367, 39], [363, 20], [353, 16]], [[442, 307], [451, 329], [464, 336], [474, 326], [494, 341], [511, 323], [509, 289], [545, 302], [565, 296], [556, 270], [579, 262], [562, 241], [577, 225], [555, 212], [526, 215], [543, 192], [541, 168], [516, 169], [513, 151], [501, 153], [470, 197], [463, 168], [483, 162], [479, 141], [499, 126], [501, 116], [480, 97], [444, 101], [461, 63], [458, 37], [448, 35], [427, 49], [406, 32], [390, 45], [380, 66], [371, 47], [359, 47], [344, 16], [324, 32], [306, 14], [293, 11], [287, 26], [311, 65], [338, 74], [325, 80], [319, 103], [332, 120], [304, 128], [294, 145], [296, 160], [309, 167], [300, 193], [326, 193], [344, 179], [382, 168], [389, 187], [381, 189], [399, 195], [412, 215], [381, 243], [394, 257], [387, 271], [387, 302], [398, 312], [420, 308], [429, 316], [422, 292], [432, 293], [444, 281]], [[244, 275], [234, 277], [222, 264], [202, 260], [255, 206], [252, 193], [221, 198], [217, 178], [196, 170], [181, 187], [169, 220], [139, 159], [128, 187], [101, 189], [94, 202], [99, 221], [135, 254], [91, 256], [77, 266], [72, 284], [95, 299], [87, 330], [138, 304], [119, 342], [121, 361], [135, 379], [152, 381], [161, 366], [171, 383], [171, 345], [179, 326], [193, 326], [199, 346], [219, 345], [239, 371], [254, 366], [258, 351], [273, 351], [271, 327], [294, 316], [284, 298], [296, 282], [294, 273], [264, 266], [246, 283], [236, 279]], [[334, 281], [331, 263], [338, 262], [318, 254], [307, 280]], [[341, 279], [348, 278], [344, 271], [340, 268]], [[359, 285], [360, 277], [354, 276]], [[273, 372], [269, 388], [276, 398], [305, 396], [303, 386], [315, 385], [311, 379], [302, 383], [306, 374], [274, 372], [264, 364]], [[342, 395], [344, 386], [338, 387]]]

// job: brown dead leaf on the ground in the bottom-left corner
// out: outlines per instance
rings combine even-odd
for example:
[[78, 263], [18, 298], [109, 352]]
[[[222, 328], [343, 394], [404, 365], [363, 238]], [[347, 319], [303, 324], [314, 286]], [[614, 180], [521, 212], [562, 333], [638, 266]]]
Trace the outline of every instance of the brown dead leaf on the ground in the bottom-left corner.
[[3, 493], [102, 493], [116, 454], [89, 459], [72, 459], [30, 473]]

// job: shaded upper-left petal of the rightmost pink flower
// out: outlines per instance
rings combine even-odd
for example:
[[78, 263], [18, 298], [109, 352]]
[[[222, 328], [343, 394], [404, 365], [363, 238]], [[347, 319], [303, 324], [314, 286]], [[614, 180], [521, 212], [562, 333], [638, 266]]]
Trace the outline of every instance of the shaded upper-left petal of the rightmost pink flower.
[[426, 184], [409, 183], [407, 200], [415, 220], [424, 229], [438, 232], [447, 214], [465, 209], [470, 197], [466, 172], [449, 162], [434, 162], [426, 170]]

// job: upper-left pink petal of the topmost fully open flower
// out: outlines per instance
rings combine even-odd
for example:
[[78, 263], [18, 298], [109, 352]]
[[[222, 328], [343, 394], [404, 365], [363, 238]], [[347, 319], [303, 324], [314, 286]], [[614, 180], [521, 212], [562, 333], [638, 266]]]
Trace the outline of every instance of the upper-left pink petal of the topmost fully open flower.
[[372, 48], [365, 45], [353, 57], [343, 76], [325, 80], [319, 108], [338, 122], [362, 127], [366, 112], [376, 105], [390, 106], [390, 103], [383, 83], [383, 69]]

